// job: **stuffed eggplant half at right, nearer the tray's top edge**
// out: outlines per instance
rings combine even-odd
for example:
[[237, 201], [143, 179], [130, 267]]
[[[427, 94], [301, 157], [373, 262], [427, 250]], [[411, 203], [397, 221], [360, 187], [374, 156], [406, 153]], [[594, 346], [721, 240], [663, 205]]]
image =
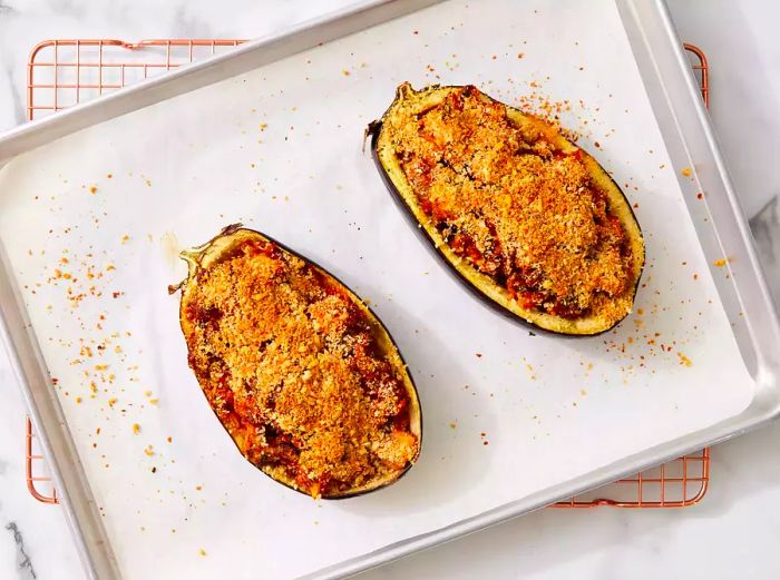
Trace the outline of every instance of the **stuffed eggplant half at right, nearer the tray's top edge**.
[[602, 333], [631, 312], [640, 226], [614, 180], [555, 126], [476, 87], [403, 83], [369, 132], [396, 200], [491, 306], [567, 335]]

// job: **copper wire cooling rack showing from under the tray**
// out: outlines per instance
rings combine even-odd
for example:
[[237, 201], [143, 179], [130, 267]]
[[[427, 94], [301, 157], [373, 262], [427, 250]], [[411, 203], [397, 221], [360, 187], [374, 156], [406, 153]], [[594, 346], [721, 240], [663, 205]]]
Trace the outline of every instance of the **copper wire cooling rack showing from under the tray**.
[[[107, 95], [238, 46], [242, 40], [165, 39], [124, 42], [110, 39], [46, 40], [30, 52], [27, 65], [27, 117], [40, 119], [79, 102]], [[710, 104], [704, 53], [685, 45], [704, 104]], [[30, 494], [58, 503], [46, 458], [27, 420], [26, 479]], [[684, 508], [702, 500], [710, 480], [710, 452], [704, 449], [632, 478], [553, 504], [555, 508]]]

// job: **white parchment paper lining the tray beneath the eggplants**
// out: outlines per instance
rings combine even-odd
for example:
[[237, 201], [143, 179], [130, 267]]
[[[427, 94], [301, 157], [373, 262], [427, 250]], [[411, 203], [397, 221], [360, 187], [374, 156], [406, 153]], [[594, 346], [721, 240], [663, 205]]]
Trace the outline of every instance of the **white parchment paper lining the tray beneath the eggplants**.
[[[458, 286], [361, 153], [402, 80], [568, 99], [565, 125], [638, 205], [637, 315], [602, 337], [529, 336]], [[0, 236], [125, 576], [302, 574], [742, 411], [752, 380], [681, 169], [606, 1], [447, 2], [12, 161]], [[175, 248], [237, 220], [340, 276], [393, 333], [426, 421], [397, 485], [318, 504], [246, 464], [214, 419], [165, 288], [184, 276]]]

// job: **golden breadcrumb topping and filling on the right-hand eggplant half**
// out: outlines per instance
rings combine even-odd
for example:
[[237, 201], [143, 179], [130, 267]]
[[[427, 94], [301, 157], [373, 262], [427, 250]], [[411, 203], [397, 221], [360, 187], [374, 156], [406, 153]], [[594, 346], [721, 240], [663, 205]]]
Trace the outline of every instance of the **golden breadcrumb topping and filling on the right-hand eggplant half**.
[[400, 106], [384, 124], [445, 243], [521, 307], [614, 321], [631, 311], [631, 246], [579, 149], [562, 151], [475, 87], [422, 111]]

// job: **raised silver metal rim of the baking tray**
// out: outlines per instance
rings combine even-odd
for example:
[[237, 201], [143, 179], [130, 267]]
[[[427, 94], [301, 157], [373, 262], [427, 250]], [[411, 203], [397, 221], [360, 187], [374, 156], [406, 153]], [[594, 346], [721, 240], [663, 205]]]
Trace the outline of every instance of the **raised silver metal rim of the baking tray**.
[[[247, 42], [231, 53], [217, 56], [202, 63], [184, 67], [163, 77], [143, 81], [137, 86], [117, 91], [103, 99], [62, 111], [60, 115], [22, 125], [17, 129], [0, 135], [0, 167], [16, 155], [80, 128], [223, 80], [299, 50], [311, 48], [316, 41], [326, 42], [334, 40], [438, 1], [362, 0], [347, 9]], [[695, 122], [699, 130], [703, 134], [709, 146], [709, 153], [713, 157], [718, 177], [722, 183], [722, 193], [733, 214], [733, 225], [740, 234], [738, 242], [748, 257], [744, 267], [748, 267], [748, 273], [752, 275], [751, 282], [755, 284], [758, 289], [759, 299], [754, 301], [752, 305], [747, 305], [750, 307], [745, 307], [745, 317], [749, 318], [749, 323], [755, 325], [755, 328], [763, 335], [762, 338], [774, 338], [774, 342], [769, 344], [780, 344], [780, 326], [778, 325], [777, 312], [758, 263], [747, 219], [739, 207], [709, 118], [698, 97], [698, 89], [685, 61], [682, 43], [677, 41], [677, 36], [665, 3], [663, 0], [654, 0], [652, 3], [644, 4], [641, 10], [642, 13], [640, 13], [637, 8], [640, 0], [615, 1], [624, 26], [626, 26], [626, 32], [635, 57], [637, 57], [637, 50], [640, 50], [637, 46], [641, 48], [642, 41], [647, 45], [646, 48], [651, 52], [650, 56], [653, 56], [650, 50], [650, 41], [645, 36], [646, 30], [640, 26], [640, 20], [642, 19], [645, 21], [652, 19], [653, 24], [656, 27], [656, 33], [661, 35], [662, 40], [671, 40], [665, 48], [670, 51], [671, 58], [675, 60], [675, 66], [671, 71], [666, 72], [667, 76], [673, 75], [676, 81], [682, 82], [685, 88], [683, 95], [677, 99], [682, 99], [683, 102], [675, 102], [675, 110], [691, 115], [693, 119], [691, 122]], [[630, 30], [632, 22], [636, 27], [633, 31]], [[637, 38], [631, 38], [632, 32], [635, 37], [638, 37], [638, 40]], [[312, 42], [314, 38], [319, 40]], [[659, 78], [662, 77], [657, 67], [655, 72]], [[666, 95], [666, 98], [671, 101], [669, 95]], [[671, 104], [667, 105], [672, 107]], [[680, 129], [680, 127], [676, 128]], [[684, 141], [684, 136], [681, 135], [680, 137]], [[665, 134], [664, 138], [666, 138]], [[683, 142], [684, 149], [690, 153], [690, 148], [686, 145]], [[755, 317], [757, 312], [761, 314], [760, 318]], [[754, 338], [753, 335], [751, 336]], [[50, 381], [47, 379], [46, 367], [37, 347], [35, 335], [30, 332], [29, 322], [26, 318], [26, 309], [7, 272], [1, 246], [0, 342], [4, 344], [8, 351], [11, 371], [21, 385], [25, 402], [39, 430], [41, 448], [47, 456], [52, 460], [50, 465], [52, 479], [61, 490], [62, 507], [88, 577], [120, 578], [121, 574], [111, 553], [110, 543], [103, 529], [100, 517], [97, 514], [89, 484], [84, 478], [78, 455], [72, 449], [72, 441], [70, 440], [67, 423], [62, 420], [59, 402], [56, 396], [50, 395], [50, 389], [48, 389], [50, 387]], [[764, 342], [764, 344], [767, 343]], [[608, 483], [611, 480], [621, 479], [632, 472], [638, 472], [652, 464], [724, 441], [768, 423], [780, 415], [780, 385], [778, 384], [778, 370], [780, 368], [778, 355], [780, 353], [767, 353], [766, 350], [760, 347], [760, 344], [758, 346], [757, 355], [760, 364], [755, 376], [757, 394], [750, 405], [740, 414], [683, 438], [623, 458], [575, 480], [540, 490], [527, 498], [461, 520], [439, 530], [409, 538], [371, 553], [340, 562], [304, 578], [340, 578], [358, 573], [409, 553], [497, 524], [542, 508], [558, 499], [582, 493], [599, 484]], [[33, 384], [38, 385], [37, 392], [33, 391]], [[52, 435], [60, 439], [52, 440], [49, 431], [51, 431]], [[61, 468], [60, 463], [68, 463], [67, 460], [69, 460], [69, 464], [65, 469]]]

